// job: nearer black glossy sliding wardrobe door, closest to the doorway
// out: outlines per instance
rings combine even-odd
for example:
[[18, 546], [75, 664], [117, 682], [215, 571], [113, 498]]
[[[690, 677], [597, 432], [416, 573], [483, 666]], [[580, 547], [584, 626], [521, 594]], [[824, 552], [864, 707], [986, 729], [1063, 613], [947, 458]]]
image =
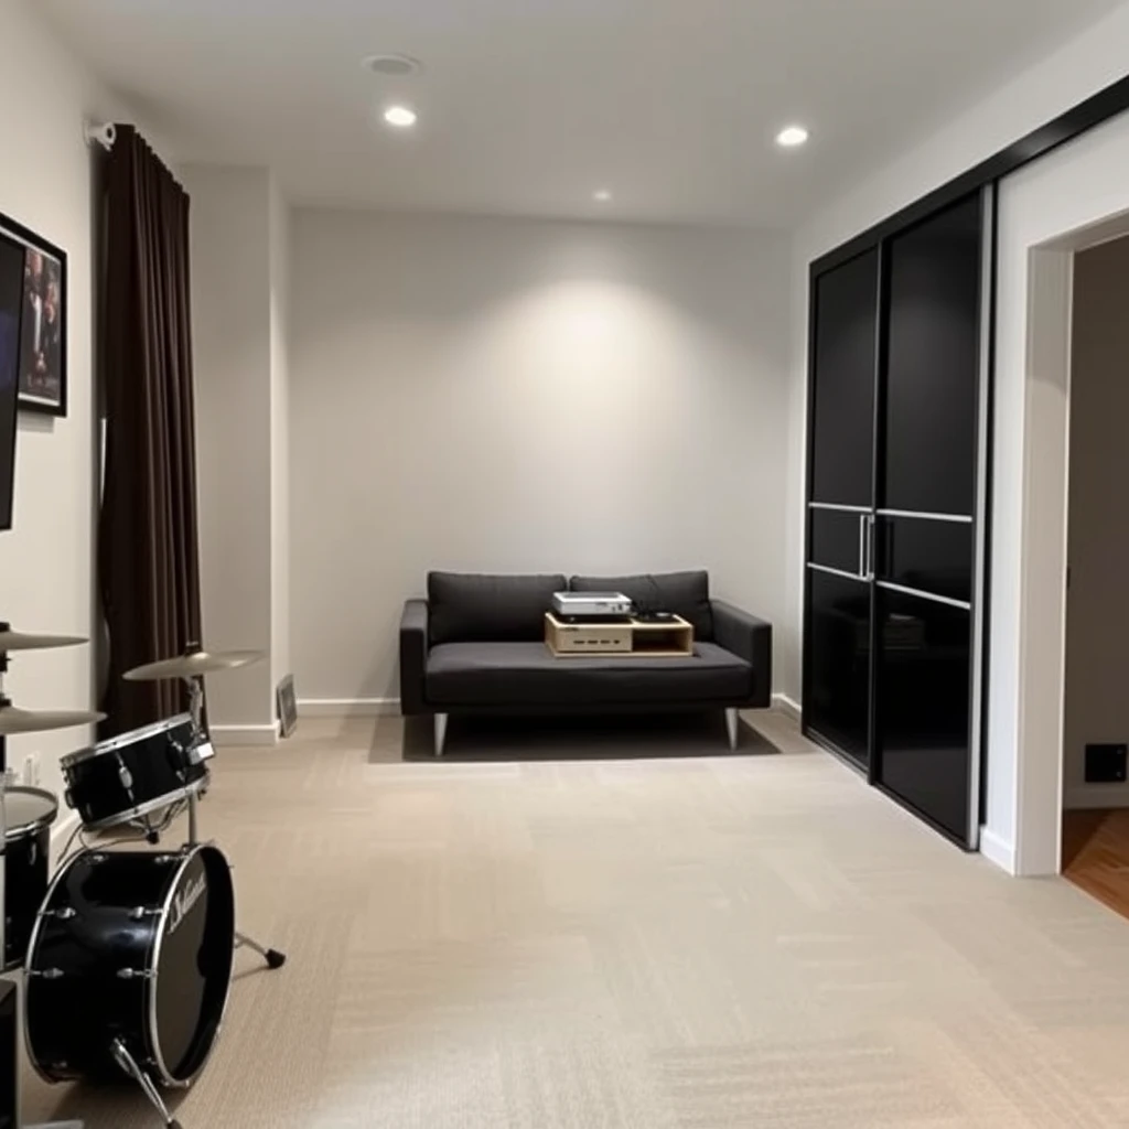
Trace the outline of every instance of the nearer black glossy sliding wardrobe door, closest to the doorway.
[[887, 246], [874, 778], [969, 840], [980, 194]]

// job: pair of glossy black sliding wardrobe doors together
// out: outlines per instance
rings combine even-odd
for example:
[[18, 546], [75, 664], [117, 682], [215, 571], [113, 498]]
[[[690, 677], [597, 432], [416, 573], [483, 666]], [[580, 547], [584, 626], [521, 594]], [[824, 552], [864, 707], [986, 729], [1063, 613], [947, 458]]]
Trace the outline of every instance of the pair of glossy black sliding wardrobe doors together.
[[966, 846], [984, 199], [813, 281], [805, 732]]

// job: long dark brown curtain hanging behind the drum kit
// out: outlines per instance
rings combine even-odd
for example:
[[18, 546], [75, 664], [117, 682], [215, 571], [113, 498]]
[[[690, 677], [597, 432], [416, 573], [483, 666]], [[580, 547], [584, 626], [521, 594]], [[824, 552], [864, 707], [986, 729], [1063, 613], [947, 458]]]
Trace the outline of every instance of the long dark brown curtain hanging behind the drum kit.
[[182, 683], [122, 674], [200, 640], [189, 196], [130, 125], [104, 185], [103, 738], [185, 708]]

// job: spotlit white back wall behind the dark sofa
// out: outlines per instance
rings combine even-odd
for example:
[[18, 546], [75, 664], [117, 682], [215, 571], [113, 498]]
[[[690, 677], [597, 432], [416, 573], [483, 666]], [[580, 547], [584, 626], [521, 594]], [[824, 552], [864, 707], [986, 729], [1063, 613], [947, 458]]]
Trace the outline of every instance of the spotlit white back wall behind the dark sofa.
[[429, 568], [706, 566], [786, 629], [784, 239], [295, 217], [303, 699], [396, 697]]

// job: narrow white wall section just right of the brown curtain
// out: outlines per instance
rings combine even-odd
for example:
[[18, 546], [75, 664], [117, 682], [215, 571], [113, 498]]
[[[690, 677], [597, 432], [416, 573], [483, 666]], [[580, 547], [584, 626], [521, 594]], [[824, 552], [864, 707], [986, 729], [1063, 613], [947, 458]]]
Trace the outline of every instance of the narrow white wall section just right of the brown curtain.
[[[271, 654], [270, 176], [190, 165], [196, 480], [204, 645]], [[272, 664], [208, 681], [218, 741], [273, 730]]]

